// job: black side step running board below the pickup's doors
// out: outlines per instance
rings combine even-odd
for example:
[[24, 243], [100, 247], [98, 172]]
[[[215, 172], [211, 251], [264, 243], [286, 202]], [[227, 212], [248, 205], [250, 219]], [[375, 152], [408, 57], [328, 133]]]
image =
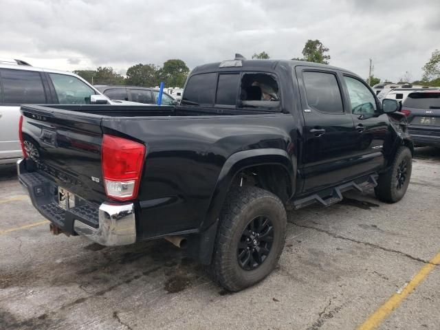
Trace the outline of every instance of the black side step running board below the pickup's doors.
[[365, 177], [360, 177], [353, 181], [346, 182], [345, 184], [341, 184], [340, 186], [336, 186], [333, 188], [327, 188], [320, 192], [316, 192], [314, 195], [309, 195], [307, 197], [303, 197], [300, 199], [295, 199], [291, 202], [294, 210], [298, 210], [298, 208], [304, 208], [305, 206], [309, 206], [313, 203], [321, 203], [323, 206], [331, 206], [334, 203], [338, 203], [338, 201], [342, 201], [342, 192], [347, 190], [355, 189], [358, 191], [364, 191], [369, 188], [373, 188], [377, 186], [377, 174], [366, 175]]

